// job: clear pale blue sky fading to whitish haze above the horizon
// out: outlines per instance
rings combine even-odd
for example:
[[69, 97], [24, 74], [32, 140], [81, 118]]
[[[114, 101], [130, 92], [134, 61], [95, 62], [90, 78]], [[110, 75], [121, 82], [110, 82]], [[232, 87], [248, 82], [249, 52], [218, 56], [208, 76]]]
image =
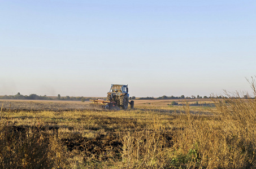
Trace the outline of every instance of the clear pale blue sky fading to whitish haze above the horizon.
[[256, 1], [1, 1], [0, 95], [250, 90]]

